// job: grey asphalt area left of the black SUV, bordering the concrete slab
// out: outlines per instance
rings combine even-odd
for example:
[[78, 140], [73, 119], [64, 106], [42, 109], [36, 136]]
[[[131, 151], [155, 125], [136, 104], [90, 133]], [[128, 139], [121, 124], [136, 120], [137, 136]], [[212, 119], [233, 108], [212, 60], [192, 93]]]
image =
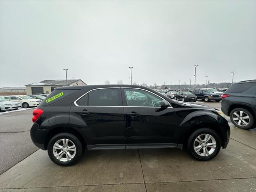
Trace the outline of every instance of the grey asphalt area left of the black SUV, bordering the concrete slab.
[[30, 138], [32, 110], [0, 115], [0, 174], [38, 150]]

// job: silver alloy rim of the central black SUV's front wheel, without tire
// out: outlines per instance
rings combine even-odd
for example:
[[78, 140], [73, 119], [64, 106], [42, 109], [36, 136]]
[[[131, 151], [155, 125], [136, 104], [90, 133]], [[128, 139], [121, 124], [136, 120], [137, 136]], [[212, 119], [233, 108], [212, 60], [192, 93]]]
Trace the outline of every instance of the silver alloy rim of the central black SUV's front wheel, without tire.
[[211, 155], [216, 148], [216, 140], [210, 134], [201, 134], [194, 140], [195, 152], [203, 157]]

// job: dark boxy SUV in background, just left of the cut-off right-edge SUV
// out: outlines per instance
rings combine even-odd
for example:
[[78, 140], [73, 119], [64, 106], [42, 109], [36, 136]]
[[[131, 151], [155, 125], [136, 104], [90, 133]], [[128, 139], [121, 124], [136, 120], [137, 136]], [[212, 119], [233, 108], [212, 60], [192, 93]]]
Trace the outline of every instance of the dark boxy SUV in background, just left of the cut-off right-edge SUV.
[[198, 99], [202, 99], [206, 102], [210, 100], [220, 102], [220, 100], [222, 99], [221, 94], [213, 93], [210, 90], [194, 89], [192, 90], [192, 94], [196, 95]]

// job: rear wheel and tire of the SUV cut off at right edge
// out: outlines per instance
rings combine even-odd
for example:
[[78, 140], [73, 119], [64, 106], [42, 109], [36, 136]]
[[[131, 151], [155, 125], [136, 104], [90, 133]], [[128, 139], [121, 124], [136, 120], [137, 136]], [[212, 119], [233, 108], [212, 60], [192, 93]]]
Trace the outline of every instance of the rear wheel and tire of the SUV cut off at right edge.
[[[241, 112], [242, 113], [241, 113]], [[242, 119], [239, 124], [239, 118], [242, 114]], [[246, 118], [244, 118], [246, 117]], [[230, 112], [230, 120], [231, 122], [238, 128], [241, 129], [252, 129], [254, 128], [254, 118], [252, 116], [252, 113], [244, 108], [235, 108]]]

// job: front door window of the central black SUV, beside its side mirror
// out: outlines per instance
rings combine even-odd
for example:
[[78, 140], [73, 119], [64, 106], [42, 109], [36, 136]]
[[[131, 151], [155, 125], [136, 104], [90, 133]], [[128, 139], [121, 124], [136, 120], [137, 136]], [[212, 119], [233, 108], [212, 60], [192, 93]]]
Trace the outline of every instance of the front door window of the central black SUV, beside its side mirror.
[[124, 89], [127, 106], [160, 107], [162, 99], [150, 92], [140, 89]]

